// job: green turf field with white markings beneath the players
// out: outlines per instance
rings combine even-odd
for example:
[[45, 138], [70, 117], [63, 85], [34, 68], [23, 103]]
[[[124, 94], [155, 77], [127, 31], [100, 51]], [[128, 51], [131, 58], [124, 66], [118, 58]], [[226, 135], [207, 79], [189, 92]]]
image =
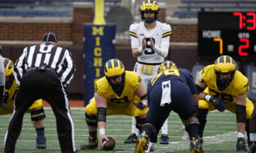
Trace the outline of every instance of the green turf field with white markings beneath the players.
[[[45, 109], [45, 136], [47, 141], [46, 150], [37, 150], [36, 131], [30, 119], [30, 113], [26, 113], [23, 119], [22, 131], [16, 143], [16, 153], [28, 152], [61, 152], [56, 132], [56, 120], [51, 109]], [[4, 135], [8, 128], [11, 115], [0, 116], [0, 152], [3, 152]], [[125, 115], [107, 116], [106, 135], [116, 141], [116, 147], [112, 151], [103, 150], [80, 150], [80, 146], [88, 140], [88, 130], [84, 121], [82, 108], [72, 109], [72, 119], [75, 126], [76, 147], [79, 152], [134, 152], [134, 144], [124, 144], [124, 140], [131, 134], [132, 117]], [[236, 115], [230, 112], [211, 112], [207, 117], [204, 131], [205, 152], [236, 152], [237, 132]], [[181, 141], [183, 133], [179, 133], [182, 122], [179, 116], [172, 112], [168, 118], [169, 145], [159, 145], [157, 152], [191, 152], [189, 151], [189, 140]], [[160, 136], [159, 136], [160, 137]], [[158, 138], [159, 140], [159, 138]], [[247, 138], [246, 138], [247, 143]], [[247, 147], [248, 149], [248, 147]]]

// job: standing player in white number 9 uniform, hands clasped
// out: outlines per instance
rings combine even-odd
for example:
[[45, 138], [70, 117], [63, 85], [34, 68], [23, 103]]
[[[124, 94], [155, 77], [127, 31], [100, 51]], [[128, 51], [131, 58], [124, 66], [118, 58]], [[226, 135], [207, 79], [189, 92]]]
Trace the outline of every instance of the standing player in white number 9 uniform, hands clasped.
[[[142, 22], [130, 26], [132, 55], [138, 58], [134, 66], [142, 78], [143, 84], [148, 85], [150, 80], [157, 75], [159, 65], [168, 55], [170, 35], [172, 29], [169, 24], [158, 22], [159, 5], [154, 0], [145, 0], [140, 6]], [[136, 120], [132, 118], [132, 135], [124, 143], [136, 143], [138, 129]], [[167, 119], [161, 129], [160, 144], [168, 144]], [[151, 141], [151, 140], [150, 140]], [[154, 140], [156, 142], [156, 140]]]

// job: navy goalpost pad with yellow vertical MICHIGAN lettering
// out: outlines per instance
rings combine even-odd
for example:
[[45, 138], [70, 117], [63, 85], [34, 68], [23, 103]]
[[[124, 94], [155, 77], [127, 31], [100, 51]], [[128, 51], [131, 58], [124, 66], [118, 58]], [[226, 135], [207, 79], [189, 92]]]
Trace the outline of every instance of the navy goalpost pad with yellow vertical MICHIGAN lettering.
[[94, 96], [94, 84], [104, 77], [104, 64], [115, 58], [115, 24], [84, 24], [84, 106]]

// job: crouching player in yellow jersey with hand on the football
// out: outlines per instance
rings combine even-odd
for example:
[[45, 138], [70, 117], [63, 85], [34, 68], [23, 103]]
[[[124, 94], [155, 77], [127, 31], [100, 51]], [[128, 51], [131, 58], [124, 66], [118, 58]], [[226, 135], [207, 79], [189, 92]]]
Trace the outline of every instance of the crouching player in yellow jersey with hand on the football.
[[[86, 124], [89, 142], [81, 149], [97, 149], [97, 127], [100, 134], [100, 148], [105, 135], [106, 115], [131, 115], [137, 120], [137, 128], [145, 123], [147, 114], [147, 89], [141, 84], [141, 77], [134, 71], [125, 71], [118, 59], [110, 59], [104, 66], [105, 77], [95, 83], [95, 94], [86, 106]], [[138, 103], [133, 103], [136, 101]]]

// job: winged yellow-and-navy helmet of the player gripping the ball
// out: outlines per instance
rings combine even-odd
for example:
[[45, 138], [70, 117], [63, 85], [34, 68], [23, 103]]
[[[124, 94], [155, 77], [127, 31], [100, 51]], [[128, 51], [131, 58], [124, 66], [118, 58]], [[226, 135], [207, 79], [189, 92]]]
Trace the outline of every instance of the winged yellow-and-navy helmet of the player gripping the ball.
[[[124, 85], [125, 69], [124, 64], [118, 59], [109, 59], [104, 66], [104, 73], [111, 87], [118, 88]], [[111, 78], [122, 76], [122, 81], [118, 84], [113, 84]]]

